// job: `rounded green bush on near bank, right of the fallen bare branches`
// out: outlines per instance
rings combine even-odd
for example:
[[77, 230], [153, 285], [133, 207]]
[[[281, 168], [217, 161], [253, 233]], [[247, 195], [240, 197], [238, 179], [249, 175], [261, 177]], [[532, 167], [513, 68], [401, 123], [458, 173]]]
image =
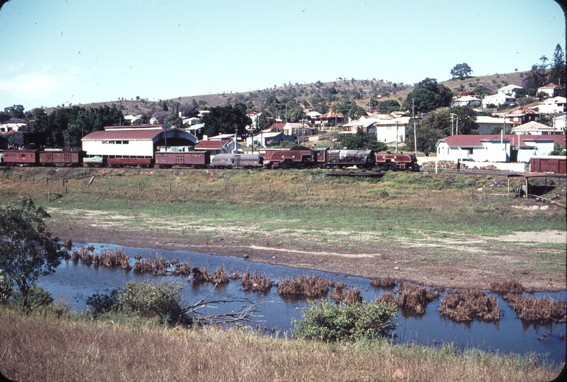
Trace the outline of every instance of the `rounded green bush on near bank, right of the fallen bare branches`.
[[397, 324], [392, 317], [397, 308], [385, 303], [333, 305], [327, 300], [311, 303], [302, 320], [293, 320], [293, 333], [301, 338], [322, 341], [372, 340], [391, 335]]

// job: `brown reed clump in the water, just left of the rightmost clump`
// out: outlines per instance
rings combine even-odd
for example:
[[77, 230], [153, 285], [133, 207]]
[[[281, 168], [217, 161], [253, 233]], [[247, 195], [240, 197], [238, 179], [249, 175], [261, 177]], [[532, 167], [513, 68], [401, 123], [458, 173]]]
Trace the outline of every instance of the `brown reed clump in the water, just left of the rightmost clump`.
[[472, 321], [474, 318], [497, 321], [500, 320], [501, 308], [495, 296], [479, 289], [453, 289], [441, 299], [439, 313], [455, 321]]

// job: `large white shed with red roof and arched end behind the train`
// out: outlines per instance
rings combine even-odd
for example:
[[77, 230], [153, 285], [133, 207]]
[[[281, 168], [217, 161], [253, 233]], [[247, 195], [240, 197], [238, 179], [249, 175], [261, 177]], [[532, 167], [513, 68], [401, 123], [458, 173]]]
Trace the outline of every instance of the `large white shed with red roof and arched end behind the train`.
[[194, 135], [166, 125], [107, 126], [81, 139], [87, 156], [151, 157], [159, 146], [192, 146]]

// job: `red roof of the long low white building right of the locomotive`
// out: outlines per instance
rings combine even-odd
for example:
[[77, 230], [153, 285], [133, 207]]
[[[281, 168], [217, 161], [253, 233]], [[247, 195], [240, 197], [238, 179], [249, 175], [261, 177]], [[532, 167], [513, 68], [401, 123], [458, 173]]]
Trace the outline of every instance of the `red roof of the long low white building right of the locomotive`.
[[[438, 140], [445, 142], [450, 147], [481, 147], [482, 142], [497, 141], [501, 139], [512, 146], [533, 146], [533, 142], [555, 141], [555, 144], [565, 144], [565, 135], [517, 135], [517, 134], [462, 134], [451, 135]], [[530, 142], [530, 144], [527, 144]]]

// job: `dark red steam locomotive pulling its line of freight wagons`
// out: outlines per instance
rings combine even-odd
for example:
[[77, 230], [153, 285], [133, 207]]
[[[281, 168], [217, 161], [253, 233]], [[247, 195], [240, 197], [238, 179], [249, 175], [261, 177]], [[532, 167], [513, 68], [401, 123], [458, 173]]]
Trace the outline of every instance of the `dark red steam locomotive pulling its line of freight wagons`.
[[4, 166], [89, 166], [193, 168], [379, 168], [419, 171], [415, 155], [375, 153], [373, 150], [333, 150], [296, 147], [264, 149], [258, 154], [216, 154], [210, 151], [156, 151], [154, 156], [86, 156], [80, 149], [0, 151]]

